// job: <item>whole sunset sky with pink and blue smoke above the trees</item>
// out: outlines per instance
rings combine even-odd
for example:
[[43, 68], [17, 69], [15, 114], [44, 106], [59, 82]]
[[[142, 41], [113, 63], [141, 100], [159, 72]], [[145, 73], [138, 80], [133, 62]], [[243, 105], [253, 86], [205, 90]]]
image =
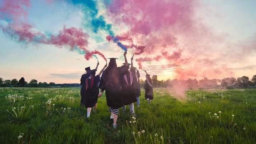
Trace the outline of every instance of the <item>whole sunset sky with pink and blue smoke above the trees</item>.
[[127, 49], [158, 80], [251, 79], [255, 13], [256, 0], [0, 0], [0, 77], [80, 83]]

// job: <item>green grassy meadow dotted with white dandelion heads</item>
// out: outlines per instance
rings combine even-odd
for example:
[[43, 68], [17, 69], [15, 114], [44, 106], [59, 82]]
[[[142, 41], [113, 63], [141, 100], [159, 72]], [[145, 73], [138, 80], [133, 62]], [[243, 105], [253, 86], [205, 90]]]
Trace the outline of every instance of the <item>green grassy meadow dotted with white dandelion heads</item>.
[[[119, 109], [117, 128], [106, 97], [86, 118], [80, 88], [0, 88], [2, 144], [256, 144], [256, 89], [154, 89], [140, 96], [136, 118]], [[105, 93], [103, 93], [105, 94]]]

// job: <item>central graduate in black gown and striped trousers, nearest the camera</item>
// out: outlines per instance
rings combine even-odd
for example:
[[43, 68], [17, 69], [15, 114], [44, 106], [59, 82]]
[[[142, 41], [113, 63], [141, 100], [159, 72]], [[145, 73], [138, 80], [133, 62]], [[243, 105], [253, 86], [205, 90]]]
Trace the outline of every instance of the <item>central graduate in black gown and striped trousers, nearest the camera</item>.
[[121, 94], [120, 77], [128, 72], [126, 53], [123, 53], [126, 65], [117, 67], [116, 58], [110, 58], [109, 65], [102, 73], [100, 79], [100, 93], [105, 91], [108, 111], [111, 111], [111, 118], [114, 119], [113, 127], [116, 128], [116, 120], [119, 114], [119, 108], [123, 106], [123, 99]]

